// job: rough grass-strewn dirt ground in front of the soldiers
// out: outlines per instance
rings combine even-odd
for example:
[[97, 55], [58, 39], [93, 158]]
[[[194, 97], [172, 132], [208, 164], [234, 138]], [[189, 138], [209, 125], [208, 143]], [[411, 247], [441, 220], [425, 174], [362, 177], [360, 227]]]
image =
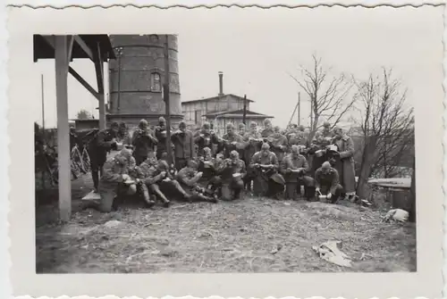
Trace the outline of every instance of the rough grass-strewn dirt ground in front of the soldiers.
[[[69, 223], [55, 221], [56, 203], [40, 203], [38, 273], [416, 270], [415, 225], [384, 223], [383, 211], [246, 196], [169, 209], [131, 204], [103, 214], [80, 211], [89, 186], [85, 177], [73, 182]], [[325, 262], [312, 250], [328, 240], [342, 241], [352, 268]]]

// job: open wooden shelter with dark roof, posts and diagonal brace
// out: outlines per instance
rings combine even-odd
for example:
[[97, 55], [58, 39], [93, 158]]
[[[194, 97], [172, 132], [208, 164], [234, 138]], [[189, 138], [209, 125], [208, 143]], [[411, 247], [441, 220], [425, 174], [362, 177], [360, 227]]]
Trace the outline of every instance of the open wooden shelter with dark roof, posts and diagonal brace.
[[[104, 62], [114, 59], [107, 35], [44, 36], [34, 35], [34, 62], [55, 59], [57, 106], [57, 154], [59, 165], [60, 219], [68, 221], [72, 214], [72, 174], [70, 127], [68, 119], [68, 73], [72, 74], [99, 102], [99, 129], [105, 129]], [[90, 59], [95, 65], [97, 89], [91, 87], [72, 69], [73, 59]]]

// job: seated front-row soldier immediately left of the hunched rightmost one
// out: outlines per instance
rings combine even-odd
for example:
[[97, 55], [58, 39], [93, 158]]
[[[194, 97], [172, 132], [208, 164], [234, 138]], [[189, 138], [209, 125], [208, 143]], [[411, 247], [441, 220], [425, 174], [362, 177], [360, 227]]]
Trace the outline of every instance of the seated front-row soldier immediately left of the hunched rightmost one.
[[296, 200], [300, 195], [301, 185], [304, 185], [305, 195], [308, 200], [315, 195], [314, 179], [307, 176], [308, 161], [299, 154], [299, 146], [291, 146], [291, 154], [288, 154], [282, 164], [281, 170], [285, 179], [285, 197]]

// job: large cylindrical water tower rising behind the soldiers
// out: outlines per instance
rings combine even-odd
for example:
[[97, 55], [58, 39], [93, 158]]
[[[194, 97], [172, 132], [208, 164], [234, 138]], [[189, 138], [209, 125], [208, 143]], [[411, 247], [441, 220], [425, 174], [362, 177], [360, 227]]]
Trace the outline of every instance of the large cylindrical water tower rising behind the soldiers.
[[[107, 122], [124, 121], [130, 129], [145, 119], [156, 125], [165, 117], [163, 100], [165, 35], [111, 35], [116, 60], [109, 62]], [[171, 123], [183, 119], [177, 61], [177, 37], [168, 36]]]

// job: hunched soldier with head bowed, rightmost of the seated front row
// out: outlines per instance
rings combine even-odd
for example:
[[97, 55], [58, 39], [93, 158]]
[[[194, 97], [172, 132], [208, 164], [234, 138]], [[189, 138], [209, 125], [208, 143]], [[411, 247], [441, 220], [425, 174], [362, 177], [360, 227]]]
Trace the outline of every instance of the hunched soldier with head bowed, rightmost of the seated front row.
[[344, 190], [340, 185], [339, 175], [330, 162], [315, 171], [316, 195], [326, 195], [331, 203], [337, 203], [339, 198], [344, 197]]

